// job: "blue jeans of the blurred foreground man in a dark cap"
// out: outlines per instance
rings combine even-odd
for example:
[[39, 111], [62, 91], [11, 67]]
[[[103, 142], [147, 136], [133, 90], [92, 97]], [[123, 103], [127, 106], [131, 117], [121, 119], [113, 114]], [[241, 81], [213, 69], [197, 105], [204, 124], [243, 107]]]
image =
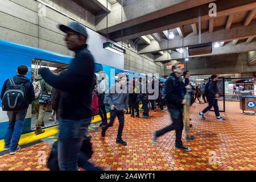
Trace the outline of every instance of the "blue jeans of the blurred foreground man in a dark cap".
[[58, 161], [60, 171], [77, 171], [77, 159], [92, 118], [68, 120], [59, 117]]

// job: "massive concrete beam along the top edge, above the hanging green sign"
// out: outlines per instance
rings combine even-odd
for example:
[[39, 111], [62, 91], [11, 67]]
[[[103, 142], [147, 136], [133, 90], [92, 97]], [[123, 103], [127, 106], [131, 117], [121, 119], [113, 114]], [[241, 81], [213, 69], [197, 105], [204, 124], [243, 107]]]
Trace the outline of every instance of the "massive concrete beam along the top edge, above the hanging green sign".
[[[140, 23], [148, 22], [156, 18], [170, 15], [170, 13], [177, 13], [179, 11], [183, 11], [214, 1], [216, 0], [164, 0], [164, 2], [155, 0], [129, 0], [126, 2], [126, 6], [123, 7], [123, 11], [125, 13], [125, 16], [123, 16], [123, 28], [135, 26]], [[209, 9], [208, 5], [207, 9]], [[109, 14], [109, 32], [121, 30], [121, 19], [119, 18], [121, 15], [119, 16], [119, 14], [121, 14], [121, 6], [119, 7], [119, 9], [113, 9], [113, 11]], [[96, 18], [96, 30], [102, 34], [106, 32], [105, 22], [105, 16], [98, 16]], [[151, 32], [150, 34], [155, 32]]]

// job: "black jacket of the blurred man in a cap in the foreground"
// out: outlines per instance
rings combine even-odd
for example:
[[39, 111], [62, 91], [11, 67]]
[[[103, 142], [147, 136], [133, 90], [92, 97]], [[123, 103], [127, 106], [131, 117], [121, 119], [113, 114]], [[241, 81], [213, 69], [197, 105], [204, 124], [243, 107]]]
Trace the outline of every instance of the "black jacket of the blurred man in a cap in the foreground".
[[66, 72], [56, 76], [48, 68], [41, 68], [40, 75], [49, 85], [61, 91], [61, 118], [79, 120], [92, 117], [94, 59], [86, 44], [77, 49], [75, 59]]

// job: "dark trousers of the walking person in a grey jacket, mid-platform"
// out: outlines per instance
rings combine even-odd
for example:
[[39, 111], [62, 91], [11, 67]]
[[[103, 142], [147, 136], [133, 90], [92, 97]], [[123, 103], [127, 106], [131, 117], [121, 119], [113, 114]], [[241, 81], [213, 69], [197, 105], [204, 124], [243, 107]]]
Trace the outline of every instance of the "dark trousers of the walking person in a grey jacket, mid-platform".
[[109, 127], [113, 126], [115, 117], [117, 116], [119, 120], [119, 127], [118, 127], [118, 133], [117, 133], [117, 138], [121, 139], [122, 138], [122, 132], [123, 132], [123, 126], [125, 125], [125, 113], [124, 111], [118, 111], [116, 109], [110, 110], [110, 122], [106, 127], [104, 128], [107, 130]]

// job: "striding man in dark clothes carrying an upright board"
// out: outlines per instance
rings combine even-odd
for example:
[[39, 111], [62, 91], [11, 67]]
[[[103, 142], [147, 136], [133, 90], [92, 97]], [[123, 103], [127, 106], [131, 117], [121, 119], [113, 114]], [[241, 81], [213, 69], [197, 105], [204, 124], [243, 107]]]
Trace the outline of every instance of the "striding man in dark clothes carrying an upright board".
[[166, 100], [168, 110], [171, 114], [172, 124], [164, 127], [162, 130], [155, 131], [153, 134], [153, 142], [156, 143], [158, 137], [166, 134], [168, 131], [176, 131], [175, 147], [184, 151], [191, 151], [191, 148], [183, 146], [181, 141], [183, 130], [183, 105], [187, 104], [184, 100], [184, 96], [181, 92], [181, 88], [184, 88], [184, 84], [181, 81], [180, 75], [183, 72], [180, 67], [180, 62], [176, 62], [172, 65], [172, 73], [166, 81]]

